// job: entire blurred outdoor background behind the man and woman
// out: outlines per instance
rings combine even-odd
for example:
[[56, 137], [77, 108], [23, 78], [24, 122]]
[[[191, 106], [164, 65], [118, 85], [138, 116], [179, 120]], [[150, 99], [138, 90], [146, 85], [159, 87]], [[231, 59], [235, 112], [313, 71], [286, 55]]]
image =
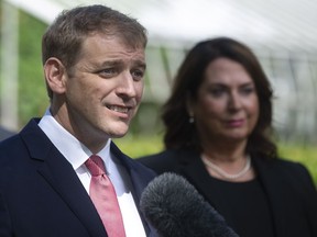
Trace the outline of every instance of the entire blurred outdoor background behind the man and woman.
[[[229, 36], [250, 46], [274, 91], [281, 154], [303, 161], [317, 181], [317, 1], [314, 0], [0, 0], [0, 124], [12, 132], [48, 105], [41, 37], [63, 10], [103, 3], [149, 31], [145, 93], [129, 135], [130, 156], [163, 148], [160, 106], [186, 50]], [[315, 174], [316, 173], [316, 174]]]

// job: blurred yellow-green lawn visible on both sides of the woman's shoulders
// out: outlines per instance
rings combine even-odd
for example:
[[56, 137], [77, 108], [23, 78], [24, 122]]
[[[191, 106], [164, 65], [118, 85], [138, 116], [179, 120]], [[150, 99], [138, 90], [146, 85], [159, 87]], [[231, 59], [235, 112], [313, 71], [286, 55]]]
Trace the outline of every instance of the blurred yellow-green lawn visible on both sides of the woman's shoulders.
[[[154, 154], [163, 149], [161, 136], [125, 136], [114, 139], [114, 143], [130, 157], [136, 158]], [[305, 165], [311, 173], [317, 185], [317, 147], [294, 144], [280, 144], [280, 154], [283, 158], [299, 161]]]

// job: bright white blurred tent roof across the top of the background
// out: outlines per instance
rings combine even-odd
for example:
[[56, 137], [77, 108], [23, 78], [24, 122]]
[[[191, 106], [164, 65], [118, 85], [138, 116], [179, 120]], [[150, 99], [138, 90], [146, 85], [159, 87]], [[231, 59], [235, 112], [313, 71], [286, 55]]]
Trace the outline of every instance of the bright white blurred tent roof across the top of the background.
[[[153, 42], [228, 35], [271, 48], [317, 49], [315, 0], [4, 0], [50, 23], [74, 5], [102, 3], [138, 18]], [[303, 41], [304, 40], [304, 41]], [[178, 43], [177, 43], [178, 44]]]

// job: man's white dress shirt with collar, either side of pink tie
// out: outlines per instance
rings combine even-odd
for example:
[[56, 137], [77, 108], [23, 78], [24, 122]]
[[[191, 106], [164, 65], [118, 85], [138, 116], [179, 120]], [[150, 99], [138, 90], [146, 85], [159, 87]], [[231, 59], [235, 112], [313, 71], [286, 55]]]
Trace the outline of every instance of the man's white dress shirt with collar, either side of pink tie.
[[[73, 166], [86, 191], [89, 193], [91, 176], [85, 166], [85, 161], [92, 155], [91, 151], [68, 133], [52, 116], [48, 109], [40, 121], [39, 126]], [[127, 237], [145, 237], [143, 224], [131, 193], [133, 189], [131, 180], [122, 165], [111, 155], [110, 142], [111, 139], [109, 139], [107, 145], [96, 155], [102, 158], [109, 178], [114, 187]]]

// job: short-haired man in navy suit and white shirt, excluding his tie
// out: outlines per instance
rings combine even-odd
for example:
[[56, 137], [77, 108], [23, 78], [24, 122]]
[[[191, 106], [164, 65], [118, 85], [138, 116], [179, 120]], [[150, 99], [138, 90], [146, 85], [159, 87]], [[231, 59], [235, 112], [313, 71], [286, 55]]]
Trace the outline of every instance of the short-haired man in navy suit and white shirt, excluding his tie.
[[120, 236], [154, 236], [139, 211], [154, 173], [111, 142], [125, 135], [140, 104], [146, 41], [134, 19], [105, 5], [64, 11], [47, 29], [42, 56], [51, 105], [0, 144], [1, 237], [119, 237], [90, 194], [92, 156], [114, 187]]

